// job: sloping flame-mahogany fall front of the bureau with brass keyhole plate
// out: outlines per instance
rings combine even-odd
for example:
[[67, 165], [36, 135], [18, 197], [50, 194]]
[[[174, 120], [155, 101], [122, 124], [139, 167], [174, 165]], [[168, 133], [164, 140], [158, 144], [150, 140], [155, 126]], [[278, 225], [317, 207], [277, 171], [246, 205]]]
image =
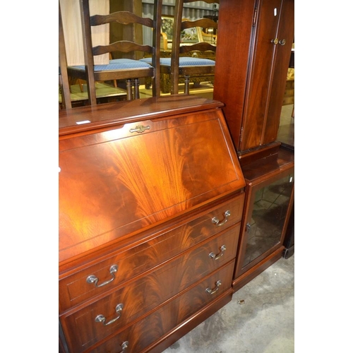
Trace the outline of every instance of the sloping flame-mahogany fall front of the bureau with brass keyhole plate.
[[59, 141], [59, 260], [244, 186], [222, 112]]

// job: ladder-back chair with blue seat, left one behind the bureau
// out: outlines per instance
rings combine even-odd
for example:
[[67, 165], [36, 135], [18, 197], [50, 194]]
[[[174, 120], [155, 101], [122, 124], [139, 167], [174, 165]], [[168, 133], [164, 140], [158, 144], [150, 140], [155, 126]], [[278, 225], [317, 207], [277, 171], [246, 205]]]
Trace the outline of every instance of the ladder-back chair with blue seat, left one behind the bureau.
[[[116, 11], [108, 15], [90, 15], [89, 0], [80, 0], [80, 13], [83, 28], [83, 47], [85, 65], [68, 66], [71, 78], [87, 81], [90, 104], [97, 104], [95, 93], [96, 81], [126, 80], [127, 100], [137, 99], [139, 95], [139, 78], [152, 78], [152, 95], [160, 95], [160, 24], [162, 21], [162, 0], [155, 0], [153, 19], [137, 16], [130, 11]], [[119, 40], [112, 44], [92, 46], [92, 26], [109, 23], [131, 25], [137, 23], [152, 28], [152, 46], [130, 40]], [[157, 33], [157, 35], [156, 35]], [[151, 55], [151, 63], [138, 59], [110, 59], [108, 64], [95, 65], [94, 57], [112, 52], [144, 52]], [[123, 54], [123, 55], [124, 55]], [[132, 90], [134, 86], [134, 94]]]

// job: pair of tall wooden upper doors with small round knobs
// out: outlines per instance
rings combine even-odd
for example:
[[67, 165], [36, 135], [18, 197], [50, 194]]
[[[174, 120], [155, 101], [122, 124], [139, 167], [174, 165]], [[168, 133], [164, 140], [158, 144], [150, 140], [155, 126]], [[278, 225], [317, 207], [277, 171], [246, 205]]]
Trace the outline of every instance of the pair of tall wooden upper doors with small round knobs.
[[277, 138], [293, 36], [294, 0], [259, 0], [241, 151], [271, 143]]

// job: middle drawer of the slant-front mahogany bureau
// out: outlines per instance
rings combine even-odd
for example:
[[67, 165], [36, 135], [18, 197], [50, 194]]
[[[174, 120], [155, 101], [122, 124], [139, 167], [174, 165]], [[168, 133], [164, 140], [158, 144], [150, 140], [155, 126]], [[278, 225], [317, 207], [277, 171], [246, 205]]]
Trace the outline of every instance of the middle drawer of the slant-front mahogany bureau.
[[[75, 337], [74, 352], [123, 328], [235, 258], [240, 225], [205, 241], [116, 292], [63, 316], [64, 331]], [[97, 316], [101, 316], [99, 321]]]

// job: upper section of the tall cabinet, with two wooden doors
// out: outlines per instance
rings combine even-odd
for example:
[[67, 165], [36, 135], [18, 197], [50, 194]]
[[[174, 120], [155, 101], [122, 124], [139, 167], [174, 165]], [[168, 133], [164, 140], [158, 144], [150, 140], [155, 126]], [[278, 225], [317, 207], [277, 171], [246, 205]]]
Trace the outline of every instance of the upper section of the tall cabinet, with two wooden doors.
[[294, 0], [220, 2], [213, 97], [239, 155], [276, 144], [293, 39]]

